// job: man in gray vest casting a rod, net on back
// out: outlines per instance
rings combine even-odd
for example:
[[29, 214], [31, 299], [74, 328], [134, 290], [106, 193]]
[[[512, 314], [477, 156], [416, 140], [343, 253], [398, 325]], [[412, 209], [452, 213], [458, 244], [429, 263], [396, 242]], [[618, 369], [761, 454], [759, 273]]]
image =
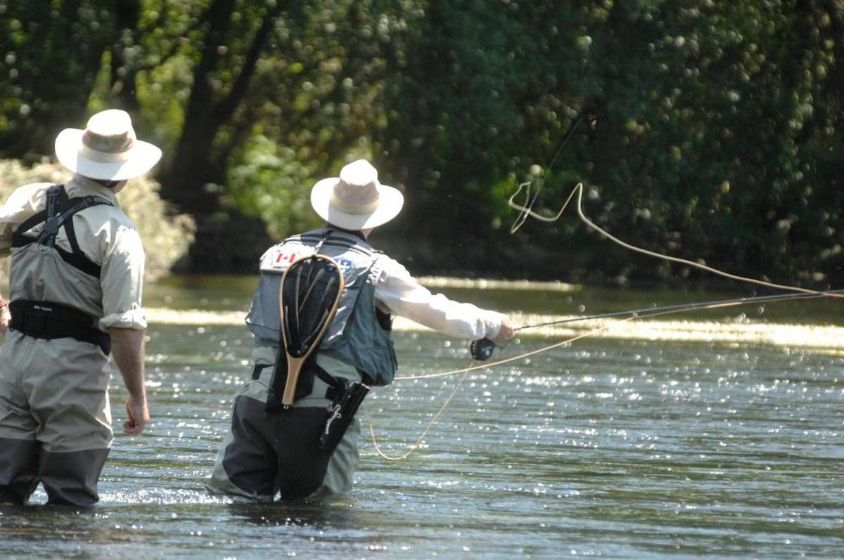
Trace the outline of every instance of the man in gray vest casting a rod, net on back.
[[[294, 500], [348, 491], [359, 460], [354, 410], [370, 385], [388, 385], [395, 376], [392, 315], [452, 337], [502, 342], [512, 336], [506, 316], [430, 293], [397, 261], [372, 248], [369, 234], [398, 215], [403, 195], [381, 185], [369, 162], [359, 159], [338, 177], [318, 181], [311, 206], [326, 226], [289, 237], [262, 256], [261, 279], [246, 316], [255, 337], [252, 380], [235, 398], [230, 432], [208, 481], [212, 493], [273, 501], [277, 494]], [[284, 360], [289, 348], [282, 334], [288, 327], [281, 325], [279, 288], [286, 290], [282, 278], [315, 253], [337, 263], [343, 289], [336, 314], [295, 381], [295, 400], [285, 406], [276, 392], [290, 363]], [[320, 284], [300, 288], [313, 298]]]

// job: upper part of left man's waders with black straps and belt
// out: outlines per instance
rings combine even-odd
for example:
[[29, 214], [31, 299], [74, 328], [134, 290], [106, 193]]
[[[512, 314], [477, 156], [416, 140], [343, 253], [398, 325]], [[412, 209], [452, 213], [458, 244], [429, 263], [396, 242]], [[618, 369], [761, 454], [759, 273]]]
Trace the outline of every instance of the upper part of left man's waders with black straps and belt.
[[[24, 274], [18, 271], [25, 269], [30, 271], [30, 276], [37, 277], [16, 278], [14, 285], [24, 286], [24, 293], [11, 294], [9, 311], [12, 320], [9, 328], [35, 338], [75, 338], [98, 345], [106, 354], [110, 352], [111, 338], [97, 328], [95, 316], [78, 310], [73, 304], [45, 300], [40, 293], [35, 293], [37, 287], [45, 282], [45, 277], [60, 285], [67, 283], [68, 294], [78, 293], [76, 283], [89, 283], [87, 292], [100, 293], [100, 265], [79, 248], [73, 229], [73, 215], [85, 208], [104, 204], [114, 206], [102, 197], [70, 198], [63, 185], [53, 185], [46, 191], [44, 210], [25, 219], [14, 230], [11, 275]], [[39, 224], [43, 224], [41, 232], [30, 234], [30, 230]], [[70, 250], [57, 245], [59, 229], [64, 229]], [[24, 264], [28, 266], [24, 267]]]

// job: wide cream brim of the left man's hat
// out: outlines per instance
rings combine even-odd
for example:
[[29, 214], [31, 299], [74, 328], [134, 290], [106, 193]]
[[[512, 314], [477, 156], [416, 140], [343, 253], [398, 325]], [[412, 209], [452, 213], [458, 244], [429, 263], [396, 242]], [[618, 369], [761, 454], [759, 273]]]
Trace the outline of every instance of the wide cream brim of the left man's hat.
[[153, 168], [161, 159], [161, 150], [148, 142], [136, 140], [126, 161], [106, 163], [79, 153], [83, 130], [66, 128], [56, 137], [56, 158], [68, 170], [90, 179], [134, 179]]

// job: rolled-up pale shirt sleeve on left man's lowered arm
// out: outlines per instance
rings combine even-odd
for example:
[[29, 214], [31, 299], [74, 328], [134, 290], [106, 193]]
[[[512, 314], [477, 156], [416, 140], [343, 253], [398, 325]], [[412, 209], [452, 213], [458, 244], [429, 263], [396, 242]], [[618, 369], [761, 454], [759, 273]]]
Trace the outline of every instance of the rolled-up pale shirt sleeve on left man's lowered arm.
[[120, 226], [114, 243], [102, 263], [100, 286], [103, 292], [103, 318], [100, 328], [144, 329], [143, 267], [146, 256], [135, 229]]

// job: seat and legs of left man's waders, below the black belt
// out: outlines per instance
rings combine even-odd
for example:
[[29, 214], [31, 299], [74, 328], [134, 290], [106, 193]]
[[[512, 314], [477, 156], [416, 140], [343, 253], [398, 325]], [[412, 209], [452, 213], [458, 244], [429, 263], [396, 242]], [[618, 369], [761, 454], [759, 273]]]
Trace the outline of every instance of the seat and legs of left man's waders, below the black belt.
[[[56, 364], [62, 363], [57, 370]], [[0, 350], [0, 503], [95, 503], [111, 447], [109, 370], [99, 347], [9, 331]]]

